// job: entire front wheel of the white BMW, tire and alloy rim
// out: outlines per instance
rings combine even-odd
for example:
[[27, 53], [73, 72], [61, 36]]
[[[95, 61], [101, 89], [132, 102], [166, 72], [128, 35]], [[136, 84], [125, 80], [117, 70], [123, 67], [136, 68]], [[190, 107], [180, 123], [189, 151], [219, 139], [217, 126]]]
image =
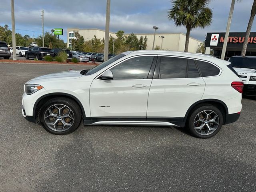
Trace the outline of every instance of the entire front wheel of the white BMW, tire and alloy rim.
[[75, 131], [81, 122], [81, 110], [68, 98], [52, 98], [40, 110], [44, 129], [52, 134], [64, 135]]

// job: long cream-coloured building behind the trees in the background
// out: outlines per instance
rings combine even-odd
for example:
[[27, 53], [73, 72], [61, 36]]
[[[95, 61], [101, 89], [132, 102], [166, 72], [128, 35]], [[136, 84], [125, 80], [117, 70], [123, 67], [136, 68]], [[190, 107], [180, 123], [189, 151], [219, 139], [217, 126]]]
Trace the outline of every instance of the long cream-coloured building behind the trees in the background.
[[[74, 31], [79, 32], [79, 34], [84, 37], [84, 40], [91, 40], [92, 38], [94, 38], [94, 35], [96, 35], [96, 37], [99, 39], [103, 39], [105, 37], [105, 31], [100, 29], [68, 28], [68, 32], [67, 32], [68, 47], [71, 47], [71, 40], [72, 38], [74, 38]], [[116, 34], [113, 32], [110, 32], [109, 35], [116, 38]], [[129, 34], [125, 34], [125, 35], [129, 35]], [[152, 50], [154, 33], [135, 34], [135, 35], [138, 38], [140, 38], [140, 36], [143, 36], [143, 37], [147, 36], [148, 42], [147, 42], [146, 49]], [[160, 36], [164, 36], [164, 38], [161, 38]], [[167, 33], [167, 34], [157, 33], [154, 47], [160, 46], [161, 48], [162, 46], [162, 49], [164, 50], [184, 51], [185, 40], [186, 40], [186, 35], [184, 33]], [[200, 43], [202, 43], [202, 41], [190, 37], [188, 52], [196, 52], [196, 49], [198, 48]]]

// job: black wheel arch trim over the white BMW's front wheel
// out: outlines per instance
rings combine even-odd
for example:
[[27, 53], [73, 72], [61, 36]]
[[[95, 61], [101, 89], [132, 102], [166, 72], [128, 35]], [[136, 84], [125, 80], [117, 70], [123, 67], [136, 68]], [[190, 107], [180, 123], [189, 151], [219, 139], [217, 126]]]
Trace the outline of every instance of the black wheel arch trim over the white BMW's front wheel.
[[38, 112], [40, 112], [40, 109], [41, 109], [43, 103], [46, 102], [46, 100], [49, 100], [49, 99], [55, 98], [55, 97], [66, 97], [66, 98], [70, 98], [70, 99], [74, 100], [80, 106], [83, 119], [86, 117], [84, 107], [82, 106], [82, 103], [80, 102], [80, 100], [78, 100], [78, 98], [76, 98], [75, 96], [68, 94], [68, 93], [56, 92], [56, 93], [45, 94], [45, 95], [41, 96], [40, 98], [38, 98], [38, 100], [36, 100], [34, 107], [33, 107], [33, 116], [35, 117], [36, 122], [39, 121]]

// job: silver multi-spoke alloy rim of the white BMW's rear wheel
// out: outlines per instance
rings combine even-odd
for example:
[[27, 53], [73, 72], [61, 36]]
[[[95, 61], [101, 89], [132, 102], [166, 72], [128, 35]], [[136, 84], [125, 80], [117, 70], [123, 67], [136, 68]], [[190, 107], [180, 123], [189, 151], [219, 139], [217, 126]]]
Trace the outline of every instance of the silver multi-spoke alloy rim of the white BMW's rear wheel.
[[194, 118], [194, 129], [200, 135], [210, 135], [219, 126], [219, 116], [212, 110], [204, 110]]

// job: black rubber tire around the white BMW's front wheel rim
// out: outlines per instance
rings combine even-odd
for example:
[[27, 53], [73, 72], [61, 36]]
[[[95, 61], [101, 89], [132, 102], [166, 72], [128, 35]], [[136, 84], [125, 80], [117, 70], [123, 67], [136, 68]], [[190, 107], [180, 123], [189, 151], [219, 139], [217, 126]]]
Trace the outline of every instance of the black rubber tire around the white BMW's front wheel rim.
[[[68, 128], [67, 130], [64, 131], [56, 131], [56, 130], [52, 130], [50, 127], [48, 127], [48, 125], [46, 124], [46, 119], [45, 114], [46, 111], [48, 111], [48, 108], [50, 108], [52, 105], [65, 105], [68, 108], [70, 108], [74, 114], [74, 120], [72, 120], [72, 126], [70, 126], [70, 128]], [[66, 134], [70, 134], [72, 132], [74, 132], [78, 126], [80, 125], [81, 122], [81, 118], [82, 118], [82, 112], [80, 110], [80, 106], [78, 106], [78, 104], [76, 102], [74, 102], [73, 100], [69, 99], [69, 98], [64, 98], [64, 97], [58, 97], [58, 98], [52, 98], [50, 100], [48, 100], [41, 108], [40, 110], [40, 122], [42, 123], [42, 126], [44, 127], [44, 129], [52, 134], [56, 134], [56, 135], [66, 135]], [[62, 118], [63, 119], [63, 118]], [[58, 120], [58, 118], [56, 118], [56, 120]], [[55, 121], [55, 120], [53, 120]], [[54, 126], [55, 127], [55, 126]], [[57, 129], [58, 130], [58, 129]]]

